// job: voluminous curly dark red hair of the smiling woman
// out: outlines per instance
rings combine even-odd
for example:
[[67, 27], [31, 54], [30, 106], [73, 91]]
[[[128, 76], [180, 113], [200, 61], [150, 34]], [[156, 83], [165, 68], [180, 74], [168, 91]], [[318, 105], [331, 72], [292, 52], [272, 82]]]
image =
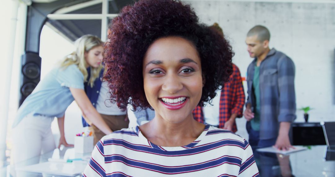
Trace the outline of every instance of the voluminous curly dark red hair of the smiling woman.
[[105, 45], [111, 100], [126, 109], [149, 108], [143, 86], [142, 65], [148, 47], [158, 38], [179, 36], [189, 40], [199, 52], [205, 85], [199, 106], [215, 97], [215, 91], [232, 73], [233, 52], [228, 41], [208, 26], [200, 24], [189, 5], [178, 0], [140, 0], [126, 6], [112, 20], [109, 43]]

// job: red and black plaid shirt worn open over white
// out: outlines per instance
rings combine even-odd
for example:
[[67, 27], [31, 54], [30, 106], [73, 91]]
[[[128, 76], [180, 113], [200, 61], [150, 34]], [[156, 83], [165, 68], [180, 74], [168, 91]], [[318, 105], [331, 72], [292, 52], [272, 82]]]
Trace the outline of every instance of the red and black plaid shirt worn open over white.
[[[239, 68], [235, 64], [232, 64], [232, 66], [233, 73], [221, 90], [219, 128], [224, 127], [224, 123], [229, 120], [231, 114], [236, 113], [237, 117], [242, 117], [243, 115], [245, 95], [242, 77]], [[204, 115], [200, 106], [193, 110], [193, 117], [195, 120], [204, 123]], [[237, 131], [236, 123], [234, 123], [232, 131]]]

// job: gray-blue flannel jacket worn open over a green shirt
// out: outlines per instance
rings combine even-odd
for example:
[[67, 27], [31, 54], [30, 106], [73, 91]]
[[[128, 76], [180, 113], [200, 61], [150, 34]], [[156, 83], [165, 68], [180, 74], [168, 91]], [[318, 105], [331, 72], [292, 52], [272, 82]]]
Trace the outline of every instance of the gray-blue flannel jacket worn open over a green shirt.
[[[248, 66], [248, 100], [256, 108], [253, 92], [255, 58]], [[293, 122], [296, 118], [295, 67], [293, 61], [274, 48], [260, 64], [259, 84], [261, 97], [260, 139], [276, 138], [279, 122]], [[246, 105], [247, 105], [246, 104]]]

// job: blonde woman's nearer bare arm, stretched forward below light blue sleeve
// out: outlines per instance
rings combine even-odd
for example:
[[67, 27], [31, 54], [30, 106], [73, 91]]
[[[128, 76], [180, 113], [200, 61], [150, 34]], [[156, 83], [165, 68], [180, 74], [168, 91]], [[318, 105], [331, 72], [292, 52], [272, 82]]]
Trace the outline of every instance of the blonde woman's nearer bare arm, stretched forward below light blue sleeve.
[[83, 115], [92, 122], [98, 129], [105, 134], [111, 134], [112, 130], [108, 127], [101, 115], [93, 107], [84, 90], [70, 87], [71, 94], [81, 109]]

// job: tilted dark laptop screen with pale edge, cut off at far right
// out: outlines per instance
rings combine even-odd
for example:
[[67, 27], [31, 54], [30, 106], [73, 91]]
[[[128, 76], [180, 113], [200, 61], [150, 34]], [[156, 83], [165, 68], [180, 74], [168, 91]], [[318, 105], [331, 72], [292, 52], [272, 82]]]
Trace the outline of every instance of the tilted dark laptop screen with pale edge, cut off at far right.
[[335, 122], [320, 122], [328, 150], [335, 151]]

